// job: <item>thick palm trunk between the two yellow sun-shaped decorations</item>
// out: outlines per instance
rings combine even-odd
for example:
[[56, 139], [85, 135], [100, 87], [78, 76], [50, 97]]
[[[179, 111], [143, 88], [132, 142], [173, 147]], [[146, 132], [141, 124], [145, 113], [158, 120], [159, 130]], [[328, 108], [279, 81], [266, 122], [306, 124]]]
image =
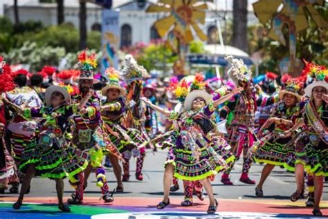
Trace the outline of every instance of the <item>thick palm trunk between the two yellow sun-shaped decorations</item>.
[[247, 52], [247, 0], [233, 0], [233, 46]]

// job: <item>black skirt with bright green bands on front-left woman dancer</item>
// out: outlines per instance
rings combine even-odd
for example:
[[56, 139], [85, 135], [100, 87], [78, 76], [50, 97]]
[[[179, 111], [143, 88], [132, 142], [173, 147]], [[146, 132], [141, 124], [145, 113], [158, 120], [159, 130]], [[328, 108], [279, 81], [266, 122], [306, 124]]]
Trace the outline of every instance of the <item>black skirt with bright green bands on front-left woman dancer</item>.
[[28, 164], [35, 165], [35, 175], [44, 178], [73, 179], [73, 176], [83, 171], [88, 162], [70, 149], [63, 137], [46, 133], [33, 138], [21, 157], [19, 169], [26, 173]]

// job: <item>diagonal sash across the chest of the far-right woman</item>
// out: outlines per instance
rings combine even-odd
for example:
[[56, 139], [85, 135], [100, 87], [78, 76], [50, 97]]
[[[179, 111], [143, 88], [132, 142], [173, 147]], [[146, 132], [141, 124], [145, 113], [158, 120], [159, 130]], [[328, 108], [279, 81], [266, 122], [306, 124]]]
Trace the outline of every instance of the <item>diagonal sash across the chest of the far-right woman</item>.
[[318, 115], [316, 108], [313, 106], [312, 102], [309, 102], [305, 106], [305, 113], [309, 124], [314, 131], [320, 136], [321, 140], [328, 144], [328, 130], [325, 123], [322, 121], [320, 115]]

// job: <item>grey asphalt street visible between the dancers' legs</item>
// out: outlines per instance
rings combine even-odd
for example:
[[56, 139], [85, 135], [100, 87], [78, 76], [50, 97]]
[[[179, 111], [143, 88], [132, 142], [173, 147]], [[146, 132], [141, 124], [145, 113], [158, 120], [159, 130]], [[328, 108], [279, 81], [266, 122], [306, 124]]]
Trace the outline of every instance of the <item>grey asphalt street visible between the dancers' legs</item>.
[[[144, 180], [138, 181], [134, 177], [136, 169], [136, 160], [130, 160], [130, 181], [124, 182], [124, 193], [115, 193], [114, 197], [145, 197], [160, 198], [163, 196], [163, 164], [165, 162], [167, 151], [158, 151], [153, 153], [149, 151], [145, 158], [143, 168]], [[212, 182], [215, 196], [224, 199], [257, 199], [255, 196], [255, 185], [244, 184], [239, 182], [239, 175], [242, 170], [242, 159], [235, 165], [232, 171], [231, 179], [233, 186], [226, 186], [220, 182], [221, 175], [217, 175]], [[250, 169], [250, 178], [258, 181], [264, 165], [254, 164]], [[107, 180], [109, 181], [109, 189], [116, 188], [116, 178], [113, 170], [107, 168]], [[179, 182], [180, 189], [171, 193], [172, 198], [181, 198], [183, 200], [183, 184]], [[287, 172], [276, 166], [271, 175], [266, 180], [264, 187], [264, 199], [268, 200], [289, 200], [291, 194], [295, 191], [295, 178], [293, 173]], [[70, 186], [68, 180], [65, 180], [64, 196], [70, 196], [74, 189]], [[8, 191], [6, 191], [8, 192]], [[6, 196], [18, 196], [17, 194], [6, 193]], [[26, 197], [41, 196], [55, 197], [55, 182], [46, 178], [33, 178], [30, 194]], [[95, 186], [95, 175], [91, 174], [88, 180], [88, 187], [85, 191], [86, 197], [100, 197], [100, 188]], [[322, 200], [328, 200], [328, 184], [325, 183]]]

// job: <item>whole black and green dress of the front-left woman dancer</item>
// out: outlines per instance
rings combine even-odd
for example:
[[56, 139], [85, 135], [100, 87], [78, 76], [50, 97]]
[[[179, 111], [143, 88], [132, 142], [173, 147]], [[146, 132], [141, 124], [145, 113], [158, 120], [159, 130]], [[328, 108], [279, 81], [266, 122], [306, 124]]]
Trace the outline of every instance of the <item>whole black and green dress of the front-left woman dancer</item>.
[[22, 154], [19, 169], [26, 173], [28, 164], [35, 164], [36, 175], [51, 179], [68, 176], [73, 180], [73, 176], [88, 164], [72, 153], [64, 138], [73, 107], [63, 104], [57, 108], [33, 108], [28, 111], [32, 117], [42, 117], [43, 120], [39, 122], [39, 135], [33, 138]]

